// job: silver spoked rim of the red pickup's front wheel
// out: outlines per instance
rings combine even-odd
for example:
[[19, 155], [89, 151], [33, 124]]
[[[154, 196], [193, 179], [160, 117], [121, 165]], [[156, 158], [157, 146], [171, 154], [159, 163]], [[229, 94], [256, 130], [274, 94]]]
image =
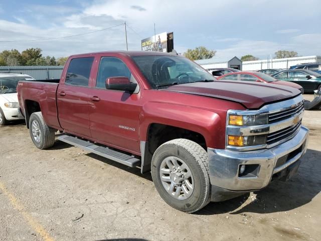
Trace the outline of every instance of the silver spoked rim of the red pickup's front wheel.
[[189, 198], [194, 190], [194, 179], [190, 168], [178, 157], [165, 158], [159, 167], [159, 176], [165, 190], [174, 198]]

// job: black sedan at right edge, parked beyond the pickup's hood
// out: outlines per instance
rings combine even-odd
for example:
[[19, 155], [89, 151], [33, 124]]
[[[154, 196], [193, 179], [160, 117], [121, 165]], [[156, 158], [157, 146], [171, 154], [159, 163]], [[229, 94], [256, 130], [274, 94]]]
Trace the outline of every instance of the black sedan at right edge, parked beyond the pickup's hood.
[[321, 74], [303, 69], [283, 70], [272, 75], [277, 80], [290, 81], [303, 87], [304, 92], [321, 89]]

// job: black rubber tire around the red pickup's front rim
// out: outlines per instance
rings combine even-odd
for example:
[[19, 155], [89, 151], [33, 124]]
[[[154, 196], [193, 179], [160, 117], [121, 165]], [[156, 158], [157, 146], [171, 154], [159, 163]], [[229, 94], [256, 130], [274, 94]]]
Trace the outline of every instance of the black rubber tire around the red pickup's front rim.
[[[177, 157], [184, 160], [193, 175], [194, 190], [185, 200], [179, 200], [172, 196], [162, 183], [160, 168], [163, 160], [168, 157]], [[159, 195], [161, 195], [164, 201], [170, 206], [178, 210], [188, 213], [196, 212], [206, 206], [210, 201], [211, 185], [208, 155], [207, 152], [195, 142], [187, 139], [175, 139], [159, 146], [152, 157], [151, 175]]]

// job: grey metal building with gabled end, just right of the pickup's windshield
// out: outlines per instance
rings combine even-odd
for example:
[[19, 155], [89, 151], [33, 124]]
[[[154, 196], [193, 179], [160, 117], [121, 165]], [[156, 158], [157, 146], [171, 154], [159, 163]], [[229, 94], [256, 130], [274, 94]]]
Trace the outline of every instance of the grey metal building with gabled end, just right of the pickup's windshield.
[[242, 61], [238, 57], [221, 57], [211, 59], [195, 60], [197, 64], [201, 65], [204, 69], [211, 68], [235, 68], [242, 69]]

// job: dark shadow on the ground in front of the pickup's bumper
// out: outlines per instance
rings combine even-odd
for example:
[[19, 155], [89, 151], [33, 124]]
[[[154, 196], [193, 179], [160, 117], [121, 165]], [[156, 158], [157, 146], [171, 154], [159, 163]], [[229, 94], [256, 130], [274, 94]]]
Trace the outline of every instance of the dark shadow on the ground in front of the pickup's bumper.
[[265, 189], [254, 192], [256, 197], [246, 194], [225, 202], [210, 203], [196, 214], [273, 213], [307, 204], [321, 191], [320, 156], [321, 152], [308, 149], [298, 173], [288, 182], [274, 181]]

